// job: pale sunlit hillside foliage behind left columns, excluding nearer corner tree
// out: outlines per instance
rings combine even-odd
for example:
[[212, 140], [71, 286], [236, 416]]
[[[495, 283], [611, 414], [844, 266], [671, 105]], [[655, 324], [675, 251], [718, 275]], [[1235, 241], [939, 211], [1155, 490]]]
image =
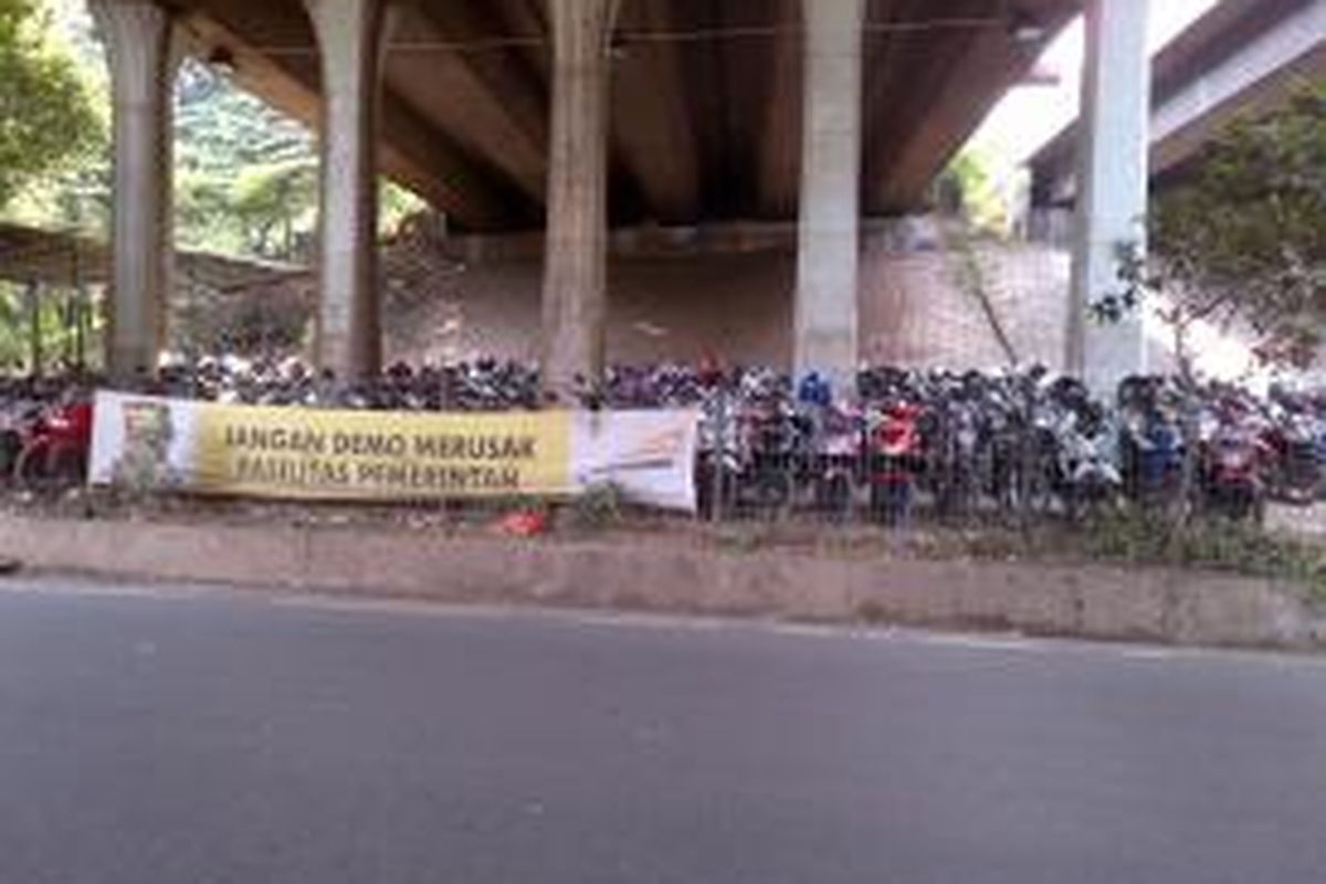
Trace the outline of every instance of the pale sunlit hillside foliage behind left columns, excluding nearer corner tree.
[[[30, 11], [29, 28], [46, 32], [44, 45], [54, 48], [48, 52], [84, 83], [85, 103], [97, 125], [89, 130], [94, 139], [88, 150], [24, 178], [25, 187], [8, 215], [105, 236], [111, 186], [105, 49], [85, 0], [0, 0], [0, 11], [20, 5]], [[0, 83], [0, 95], [4, 91], [5, 83]], [[175, 83], [174, 146], [175, 237], [180, 247], [267, 260], [309, 257], [317, 224], [318, 159], [308, 129], [224, 73], [190, 58]], [[422, 207], [407, 191], [385, 186], [383, 229], [394, 229]]]

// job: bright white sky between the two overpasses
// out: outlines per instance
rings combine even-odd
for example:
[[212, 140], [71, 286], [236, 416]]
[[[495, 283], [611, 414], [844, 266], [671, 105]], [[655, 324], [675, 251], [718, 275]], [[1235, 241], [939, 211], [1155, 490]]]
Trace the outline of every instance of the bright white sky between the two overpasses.
[[[1219, 0], [1151, 0], [1151, 48], [1159, 50]], [[1017, 164], [1077, 117], [1083, 27], [1078, 20], [1050, 44], [1038, 72], [1058, 77], [1057, 86], [1020, 86], [994, 109], [973, 139], [997, 164]]]

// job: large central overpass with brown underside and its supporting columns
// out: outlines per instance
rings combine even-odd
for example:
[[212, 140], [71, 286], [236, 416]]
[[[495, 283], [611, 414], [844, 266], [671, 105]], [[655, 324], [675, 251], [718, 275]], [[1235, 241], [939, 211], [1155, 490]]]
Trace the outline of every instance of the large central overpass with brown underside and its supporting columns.
[[[798, 223], [798, 368], [858, 357], [859, 220], [922, 204], [1082, 0], [91, 0], [115, 94], [110, 362], [151, 363], [168, 276], [168, 85], [179, 48], [322, 134], [320, 362], [379, 362], [381, 168], [457, 229], [546, 229], [544, 370], [602, 364], [610, 227]], [[1140, 140], [1147, 0], [1089, 0], [1091, 105]], [[1122, 97], [1122, 98], [1120, 98]], [[1116, 154], [1118, 151], [1115, 151]], [[1140, 155], [1142, 150], [1136, 151]], [[1093, 170], [1122, 186], [1132, 156]], [[1122, 166], [1120, 166], [1122, 162]], [[1113, 167], [1113, 168], [1111, 168]], [[1122, 168], [1122, 172], [1120, 172]], [[1135, 190], [1135, 188], [1134, 188]], [[546, 221], [545, 221], [546, 219]], [[1099, 225], [1097, 225], [1099, 227]], [[1093, 228], [1095, 229], [1095, 228]], [[1095, 239], [1105, 241], [1103, 228]], [[1103, 253], [1103, 250], [1102, 250]]]

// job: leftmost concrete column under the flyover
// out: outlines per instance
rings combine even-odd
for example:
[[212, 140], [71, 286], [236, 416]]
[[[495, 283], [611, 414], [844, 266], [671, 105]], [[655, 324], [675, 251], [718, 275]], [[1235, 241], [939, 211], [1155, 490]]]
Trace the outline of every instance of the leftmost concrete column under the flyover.
[[171, 15], [150, 0], [91, 0], [110, 61], [114, 212], [106, 367], [118, 382], [156, 368], [171, 293]]

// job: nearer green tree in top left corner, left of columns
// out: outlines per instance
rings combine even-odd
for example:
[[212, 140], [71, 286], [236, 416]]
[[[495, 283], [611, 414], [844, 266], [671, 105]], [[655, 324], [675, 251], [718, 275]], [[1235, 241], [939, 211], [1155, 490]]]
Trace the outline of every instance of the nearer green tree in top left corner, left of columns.
[[105, 143], [105, 122], [38, 0], [0, 0], [0, 208]]

